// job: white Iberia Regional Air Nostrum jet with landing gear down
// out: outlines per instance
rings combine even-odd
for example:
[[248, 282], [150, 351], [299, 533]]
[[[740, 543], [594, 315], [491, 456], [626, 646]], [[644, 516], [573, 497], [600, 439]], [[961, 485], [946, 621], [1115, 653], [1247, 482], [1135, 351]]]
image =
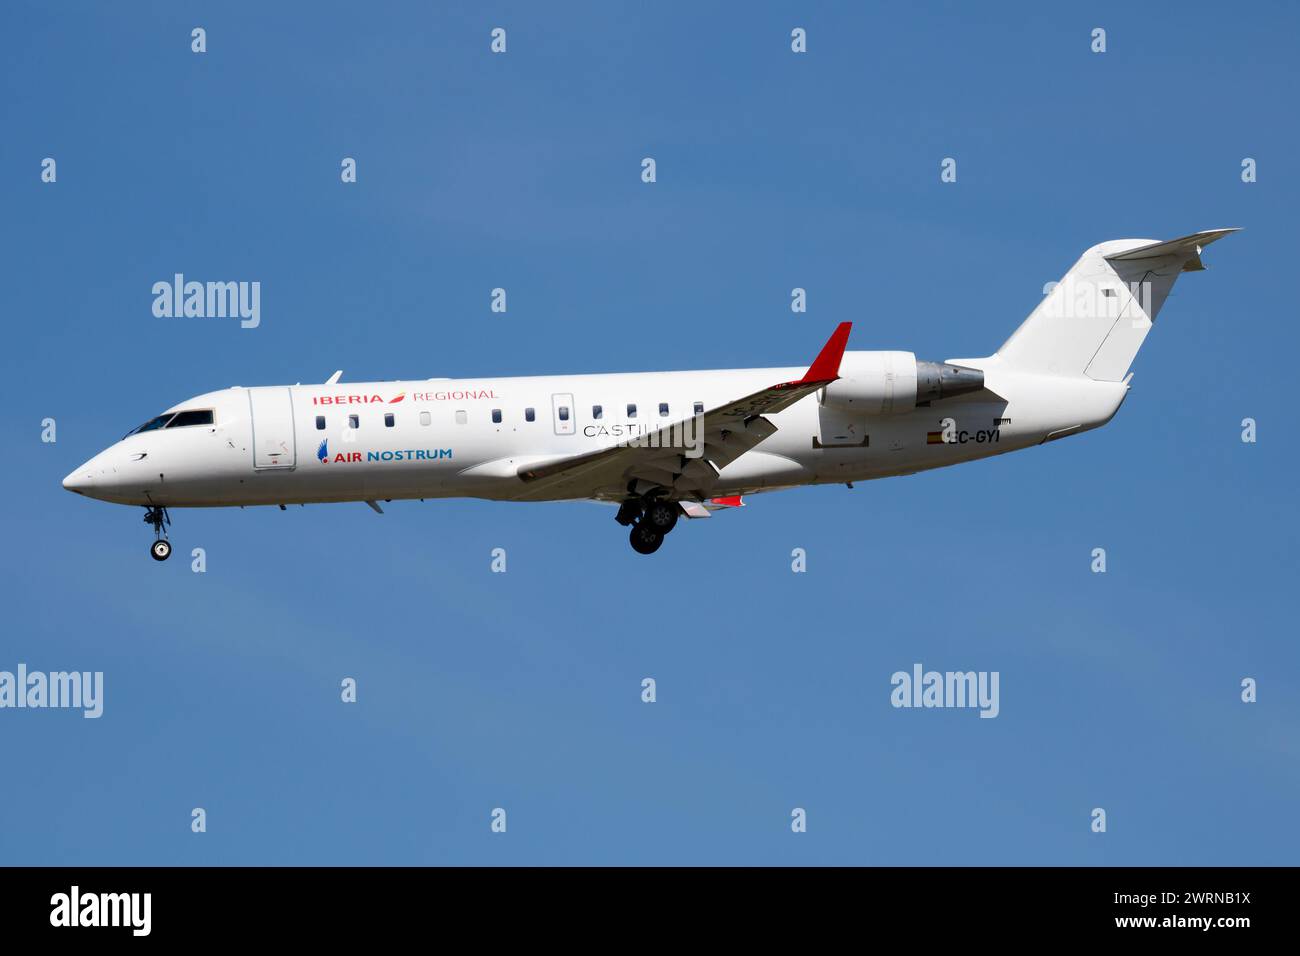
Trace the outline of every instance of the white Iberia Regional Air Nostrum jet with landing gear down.
[[1238, 232], [1087, 250], [987, 358], [848, 351], [807, 367], [229, 388], [172, 406], [64, 488], [146, 509], [474, 497], [618, 506], [632, 548], [744, 496], [911, 475], [1080, 434], [1114, 416], [1174, 281]]

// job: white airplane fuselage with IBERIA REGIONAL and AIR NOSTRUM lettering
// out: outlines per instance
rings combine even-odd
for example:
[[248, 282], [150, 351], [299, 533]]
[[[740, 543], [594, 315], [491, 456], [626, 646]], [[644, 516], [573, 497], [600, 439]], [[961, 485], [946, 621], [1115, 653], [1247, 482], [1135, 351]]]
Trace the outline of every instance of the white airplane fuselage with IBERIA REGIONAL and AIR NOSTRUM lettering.
[[[982, 369], [987, 389], [889, 415], [845, 412], [811, 394], [771, 415], [777, 431], [724, 467], [711, 493], [907, 475], [1014, 451], [1105, 424], [1127, 392], [1127, 382], [1011, 369], [996, 355], [954, 362]], [[231, 388], [168, 410], [211, 410], [211, 424], [129, 434], [64, 484], [94, 498], [160, 507], [538, 499], [519, 477], [521, 467], [606, 449], [803, 372]], [[945, 419], [950, 441], [935, 437]], [[607, 483], [547, 497], [624, 493]]]

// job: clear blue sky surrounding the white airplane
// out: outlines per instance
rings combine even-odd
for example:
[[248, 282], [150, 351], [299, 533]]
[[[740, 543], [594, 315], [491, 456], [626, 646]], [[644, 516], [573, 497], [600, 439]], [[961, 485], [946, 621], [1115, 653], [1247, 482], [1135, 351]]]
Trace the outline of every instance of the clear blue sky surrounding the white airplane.
[[[6, 4], [0, 670], [105, 701], [0, 711], [0, 862], [1295, 864], [1297, 20]], [[1232, 225], [1105, 429], [650, 559], [604, 507], [442, 501], [178, 511], [156, 564], [58, 484], [187, 395], [335, 368], [788, 365], [844, 320], [985, 355], [1086, 247]], [[261, 326], [153, 317], [176, 272], [260, 281]], [[1000, 717], [893, 709], [914, 662], [1000, 671]]]

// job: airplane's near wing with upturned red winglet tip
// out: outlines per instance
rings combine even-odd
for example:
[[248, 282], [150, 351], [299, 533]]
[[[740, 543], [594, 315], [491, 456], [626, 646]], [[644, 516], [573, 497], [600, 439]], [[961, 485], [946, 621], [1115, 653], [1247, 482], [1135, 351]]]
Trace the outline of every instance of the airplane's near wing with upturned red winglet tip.
[[562, 497], [573, 486], [621, 494], [637, 479], [671, 489], [672, 497], [702, 498], [718, 473], [776, 433], [764, 415], [789, 408], [840, 377], [852, 323], [841, 323], [798, 381], [777, 382], [734, 402], [655, 432], [581, 455], [526, 464], [520, 499]]

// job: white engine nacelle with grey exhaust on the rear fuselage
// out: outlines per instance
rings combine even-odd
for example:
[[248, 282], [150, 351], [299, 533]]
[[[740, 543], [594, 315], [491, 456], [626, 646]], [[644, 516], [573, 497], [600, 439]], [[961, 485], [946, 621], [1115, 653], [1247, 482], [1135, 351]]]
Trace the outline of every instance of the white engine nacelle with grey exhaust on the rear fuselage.
[[982, 388], [978, 368], [918, 362], [913, 352], [845, 352], [840, 378], [822, 390], [822, 405], [858, 415], [898, 415]]

